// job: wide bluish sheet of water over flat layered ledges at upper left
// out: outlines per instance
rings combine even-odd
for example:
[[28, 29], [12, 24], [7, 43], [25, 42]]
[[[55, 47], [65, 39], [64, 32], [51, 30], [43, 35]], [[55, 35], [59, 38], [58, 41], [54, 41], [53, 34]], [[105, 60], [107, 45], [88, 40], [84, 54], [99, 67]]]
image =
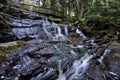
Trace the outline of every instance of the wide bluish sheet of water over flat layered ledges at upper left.
[[16, 34], [18, 39], [22, 39], [27, 36], [34, 39], [39, 38], [39, 26], [41, 25], [41, 20], [15, 19], [11, 24], [14, 26], [12, 31]]

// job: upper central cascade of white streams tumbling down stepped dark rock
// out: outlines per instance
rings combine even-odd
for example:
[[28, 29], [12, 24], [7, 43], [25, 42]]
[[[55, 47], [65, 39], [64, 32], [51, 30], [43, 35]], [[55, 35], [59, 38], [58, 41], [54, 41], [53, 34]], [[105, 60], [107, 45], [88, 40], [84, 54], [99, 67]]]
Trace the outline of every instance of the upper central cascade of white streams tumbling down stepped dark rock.
[[[66, 37], [62, 34], [61, 27], [59, 24], [54, 22], [50, 23], [47, 19], [43, 21], [43, 29], [51, 40], [54, 41], [65, 41]], [[54, 29], [51, 31], [51, 29]], [[66, 30], [67, 31], [67, 30]], [[67, 33], [67, 32], [66, 32]]]

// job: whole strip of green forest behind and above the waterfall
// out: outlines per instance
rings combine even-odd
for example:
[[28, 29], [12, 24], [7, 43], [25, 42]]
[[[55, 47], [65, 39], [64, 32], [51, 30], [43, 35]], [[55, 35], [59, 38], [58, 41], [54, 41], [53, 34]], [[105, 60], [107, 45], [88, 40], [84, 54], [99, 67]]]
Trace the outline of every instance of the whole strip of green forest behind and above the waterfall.
[[[9, 0], [11, 2], [13, 0]], [[76, 19], [80, 27], [108, 29], [120, 25], [120, 0], [41, 0], [39, 7], [59, 11], [66, 18]], [[38, 0], [40, 2], [40, 0]], [[29, 6], [30, 4], [26, 2]], [[40, 11], [36, 8], [35, 11]], [[72, 20], [71, 20], [72, 21]]]

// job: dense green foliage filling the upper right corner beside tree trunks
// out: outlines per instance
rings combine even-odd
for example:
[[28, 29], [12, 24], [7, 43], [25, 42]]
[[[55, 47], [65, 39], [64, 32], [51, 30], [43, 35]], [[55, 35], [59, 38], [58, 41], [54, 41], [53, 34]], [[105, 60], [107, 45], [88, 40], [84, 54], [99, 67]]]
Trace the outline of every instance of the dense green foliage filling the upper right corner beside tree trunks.
[[[92, 0], [91, 0], [92, 1]], [[100, 0], [92, 2], [86, 6], [84, 21], [81, 26], [87, 26], [92, 30], [105, 30], [112, 27], [120, 26], [120, 1], [119, 0]]]

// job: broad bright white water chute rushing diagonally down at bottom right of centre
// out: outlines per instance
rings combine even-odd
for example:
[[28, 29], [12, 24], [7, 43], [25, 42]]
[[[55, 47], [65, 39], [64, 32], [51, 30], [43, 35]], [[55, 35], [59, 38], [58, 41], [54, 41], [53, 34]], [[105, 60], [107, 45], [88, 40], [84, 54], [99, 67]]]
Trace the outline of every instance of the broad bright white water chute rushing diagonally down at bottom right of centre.
[[68, 75], [70, 76], [68, 78], [68, 76], [66, 76], [67, 80], [74, 80], [74, 79], [79, 79], [80, 76], [82, 76], [89, 68], [90, 65], [90, 60], [94, 55], [88, 55], [88, 53], [86, 53], [83, 57], [81, 57], [80, 60], [76, 60], [73, 62], [73, 66], [71, 67], [71, 70], [69, 71], [69, 73], [72, 73], [72, 75]]

